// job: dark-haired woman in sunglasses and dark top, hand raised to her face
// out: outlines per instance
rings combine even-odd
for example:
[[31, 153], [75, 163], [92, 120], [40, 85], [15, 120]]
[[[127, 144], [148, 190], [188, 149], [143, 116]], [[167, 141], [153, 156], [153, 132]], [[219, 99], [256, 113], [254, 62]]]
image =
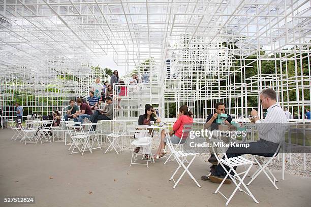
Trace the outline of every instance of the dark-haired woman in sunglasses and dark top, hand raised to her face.
[[[157, 118], [157, 119], [155, 119]], [[155, 113], [153, 107], [151, 105], [145, 106], [145, 114], [142, 114], [138, 117], [138, 125], [148, 125], [150, 126], [150, 122], [160, 123], [161, 119], [158, 117], [157, 113]], [[152, 129], [149, 129], [149, 133], [151, 133]], [[135, 138], [135, 135], [134, 135]], [[135, 148], [134, 152], [139, 152], [140, 147]]]

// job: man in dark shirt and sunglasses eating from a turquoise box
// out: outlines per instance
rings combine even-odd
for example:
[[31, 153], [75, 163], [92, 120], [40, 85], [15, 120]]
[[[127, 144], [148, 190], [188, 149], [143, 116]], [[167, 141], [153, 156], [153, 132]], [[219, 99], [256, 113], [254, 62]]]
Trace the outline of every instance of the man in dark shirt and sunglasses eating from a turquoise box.
[[[218, 130], [219, 128], [219, 125], [221, 125], [221, 123], [216, 123], [216, 119], [217, 119], [217, 116], [219, 114], [226, 114], [226, 108], [225, 108], [225, 103], [223, 102], [216, 102], [215, 104], [215, 112], [214, 114], [210, 114], [207, 116], [207, 119], [206, 119], [206, 123], [204, 125], [204, 129], [208, 129], [210, 127], [210, 130]], [[225, 124], [230, 124], [231, 121], [232, 121], [232, 118], [230, 116], [230, 114], [227, 114], [227, 119], [224, 120], [224, 123]], [[209, 141], [209, 140], [208, 140]], [[228, 141], [228, 140], [224, 140], [225, 142]], [[209, 148], [209, 152], [210, 152], [210, 158], [208, 159], [208, 162], [210, 162], [212, 165], [210, 167], [210, 171], [213, 171], [215, 170], [218, 162], [217, 162], [217, 159], [215, 157], [215, 155], [213, 154], [213, 151], [211, 148]]]

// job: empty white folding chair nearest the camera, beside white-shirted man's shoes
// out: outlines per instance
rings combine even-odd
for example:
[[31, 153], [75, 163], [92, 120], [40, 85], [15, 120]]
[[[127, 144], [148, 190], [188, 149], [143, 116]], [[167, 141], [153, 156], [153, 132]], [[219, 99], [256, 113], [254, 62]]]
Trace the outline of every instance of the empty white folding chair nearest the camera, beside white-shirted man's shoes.
[[[228, 158], [226, 153], [224, 153], [225, 158], [220, 159], [217, 155], [217, 153], [215, 152], [214, 149], [214, 144], [213, 143], [218, 143], [218, 142], [223, 142], [220, 139], [215, 139], [215, 138], [211, 138], [211, 148], [212, 151], [218, 161], [218, 163], [224, 168], [224, 170], [226, 171], [226, 176], [223, 179], [222, 183], [219, 185], [219, 187], [215, 190], [214, 194], [216, 193], [220, 193], [224, 198], [226, 198], [227, 202], [226, 205], [228, 205], [228, 203], [230, 202], [230, 200], [233, 198], [234, 194], [236, 193], [236, 191], [239, 189], [240, 192], [244, 192], [246, 193], [248, 196], [251, 196], [253, 198], [253, 200], [256, 203], [259, 203], [255, 196], [252, 194], [252, 192], [250, 191], [250, 189], [247, 188], [247, 186], [244, 184], [244, 179], [247, 176], [248, 172], [250, 171], [250, 169], [252, 168], [253, 164], [255, 162], [253, 162], [252, 160], [248, 160], [245, 159], [242, 156], [238, 156], [238, 157], [230, 157]], [[229, 141], [230, 142], [230, 141]], [[229, 143], [230, 144], [230, 143]], [[230, 169], [227, 170], [227, 168], [225, 167], [228, 166]], [[246, 167], [248, 165], [248, 167]], [[240, 173], [236, 172], [236, 170], [234, 169], [237, 166], [245, 166], [245, 171], [242, 171]], [[233, 172], [234, 175], [231, 175], [230, 172]], [[232, 182], [235, 184], [236, 188], [234, 189], [234, 191], [232, 192], [232, 194], [230, 195], [229, 198], [227, 198], [222, 192], [220, 192], [220, 188], [222, 187], [222, 185], [224, 184], [224, 182], [226, 181], [227, 178], [230, 178], [232, 180]], [[243, 189], [241, 189], [241, 185], [245, 188], [246, 191], [244, 191]]]

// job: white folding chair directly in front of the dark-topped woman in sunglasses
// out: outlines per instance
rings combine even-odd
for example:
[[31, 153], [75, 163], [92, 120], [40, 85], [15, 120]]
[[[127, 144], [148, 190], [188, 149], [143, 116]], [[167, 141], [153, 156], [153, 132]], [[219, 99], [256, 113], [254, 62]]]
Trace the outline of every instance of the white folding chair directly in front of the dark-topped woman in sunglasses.
[[[132, 166], [132, 164], [140, 164], [140, 165], [147, 165], [149, 164], [149, 161], [152, 163], [154, 163], [154, 159], [153, 159], [153, 155], [152, 155], [152, 151], [151, 151], [151, 144], [152, 144], [152, 137], [149, 134], [149, 130], [147, 129], [147, 125], [143, 125], [143, 126], [131, 126], [129, 128], [130, 132], [134, 132], [136, 134], [136, 138], [137, 140], [131, 142], [131, 146], [133, 146], [133, 150], [132, 150], [132, 158], [131, 158], [131, 164], [130, 166]], [[143, 142], [142, 142], [143, 141]], [[143, 148], [142, 151], [138, 151], [136, 152], [135, 149], [139, 147], [139, 148]], [[148, 154], [148, 158], [144, 159], [145, 155]], [[137, 158], [137, 156], [142, 156], [141, 159]], [[136, 161], [147, 161], [146, 164], [144, 163], [136, 163]]]

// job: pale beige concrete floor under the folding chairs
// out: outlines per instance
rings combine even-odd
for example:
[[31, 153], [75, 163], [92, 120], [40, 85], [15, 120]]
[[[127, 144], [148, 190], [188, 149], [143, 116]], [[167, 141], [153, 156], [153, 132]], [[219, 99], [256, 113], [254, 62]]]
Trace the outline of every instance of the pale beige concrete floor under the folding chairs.
[[[24, 145], [11, 141], [10, 129], [0, 130], [0, 206], [225, 206], [218, 184], [200, 180], [209, 166], [200, 158], [192, 164], [202, 188], [185, 175], [175, 189], [168, 181], [176, 162], [163, 159], [129, 167], [131, 152], [119, 155], [96, 150], [70, 155], [64, 143]], [[311, 179], [274, 171], [280, 181], [276, 190], [262, 174], [250, 186], [257, 200], [238, 192], [229, 206], [310, 206]], [[248, 178], [247, 178], [248, 179]], [[234, 185], [224, 185], [229, 195]], [[90, 193], [91, 192], [91, 193]], [[35, 204], [3, 203], [4, 197], [35, 196]]]

